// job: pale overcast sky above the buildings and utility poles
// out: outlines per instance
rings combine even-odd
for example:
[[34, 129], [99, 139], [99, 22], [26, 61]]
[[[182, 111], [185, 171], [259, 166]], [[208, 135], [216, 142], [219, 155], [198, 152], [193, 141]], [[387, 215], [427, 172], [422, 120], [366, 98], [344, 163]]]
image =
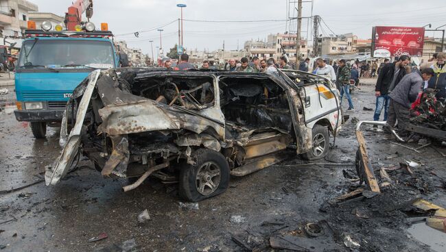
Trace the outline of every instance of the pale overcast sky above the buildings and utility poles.
[[[71, 0], [30, 0], [40, 12], [64, 15]], [[106, 22], [117, 40], [126, 40], [131, 47], [150, 52], [149, 40], [159, 46], [159, 28], [163, 27], [163, 48], [178, 42], [180, 8], [176, 0], [93, 0], [94, 14], [91, 21], [99, 27]], [[265, 40], [268, 34], [296, 31], [296, 22], [285, 22], [287, 0], [185, 0], [184, 45], [187, 49], [225, 49], [243, 47], [246, 40]], [[292, 3], [294, 4], [294, 3]], [[294, 6], [290, 5], [290, 16]], [[312, 5], [303, 3], [303, 16], [311, 16]], [[432, 23], [432, 29], [446, 24], [446, 3], [441, 0], [314, 0], [313, 14], [322, 17], [319, 34], [344, 34], [353, 32], [360, 38], [371, 38], [372, 27], [377, 25], [421, 27]], [[259, 21], [246, 23], [210, 23], [199, 21]], [[445, 28], [445, 27], [443, 27]], [[428, 29], [428, 28], [427, 28]], [[147, 31], [149, 30], [149, 31]], [[150, 31], [152, 30], [152, 31]], [[139, 31], [139, 38], [133, 33]], [[144, 32], [145, 31], [145, 32]], [[120, 34], [129, 34], [121, 35]], [[427, 31], [426, 36], [434, 36]], [[441, 36], [441, 32], [435, 34]], [[307, 38], [307, 19], [303, 20], [302, 36]], [[309, 39], [311, 40], [311, 34]], [[156, 51], [155, 51], [156, 53]]]

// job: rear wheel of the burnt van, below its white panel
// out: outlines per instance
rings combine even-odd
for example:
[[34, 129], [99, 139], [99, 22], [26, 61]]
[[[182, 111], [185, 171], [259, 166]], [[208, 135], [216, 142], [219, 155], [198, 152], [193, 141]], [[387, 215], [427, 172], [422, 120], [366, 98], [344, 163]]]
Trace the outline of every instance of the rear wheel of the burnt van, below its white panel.
[[303, 154], [306, 160], [320, 160], [324, 158], [329, 149], [328, 128], [322, 125], [314, 125], [313, 127], [313, 148], [311, 151]]

